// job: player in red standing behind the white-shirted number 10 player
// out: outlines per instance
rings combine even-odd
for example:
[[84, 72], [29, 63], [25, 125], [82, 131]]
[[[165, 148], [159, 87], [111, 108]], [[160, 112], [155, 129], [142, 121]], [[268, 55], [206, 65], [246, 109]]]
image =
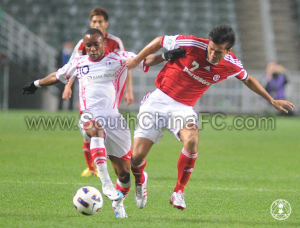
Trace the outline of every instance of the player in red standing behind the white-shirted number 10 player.
[[[106, 46], [104, 47], [104, 51], [105, 51], [104, 55], [107, 55], [108, 53], [117, 50], [125, 50], [123, 43], [119, 37], [116, 37], [106, 32], [106, 28], [108, 27], [108, 13], [105, 9], [93, 8], [89, 13], [89, 20], [90, 20], [90, 24], [89, 24], [90, 28], [98, 28], [104, 34], [106, 40]], [[69, 62], [72, 59], [85, 54], [86, 54], [86, 50], [84, 47], [83, 39], [80, 39], [73, 50]], [[67, 101], [71, 97], [72, 94], [71, 86], [74, 80], [75, 78], [72, 78], [71, 81], [64, 86], [62, 98]], [[133, 92], [132, 92], [132, 78], [131, 78], [130, 70], [128, 70], [128, 75], [126, 79], [126, 91], [124, 94], [124, 99], [126, 105], [129, 105], [134, 101]], [[89, 145], [90, 142], [87, 139], [83, 138], [82, 150], [84, 153], [87, 167], [82, 171], [81, 176], [91, 176], [91, 175], [98, 176], [98, 172], [94, 168], [93, 160], [90, 155]]]

